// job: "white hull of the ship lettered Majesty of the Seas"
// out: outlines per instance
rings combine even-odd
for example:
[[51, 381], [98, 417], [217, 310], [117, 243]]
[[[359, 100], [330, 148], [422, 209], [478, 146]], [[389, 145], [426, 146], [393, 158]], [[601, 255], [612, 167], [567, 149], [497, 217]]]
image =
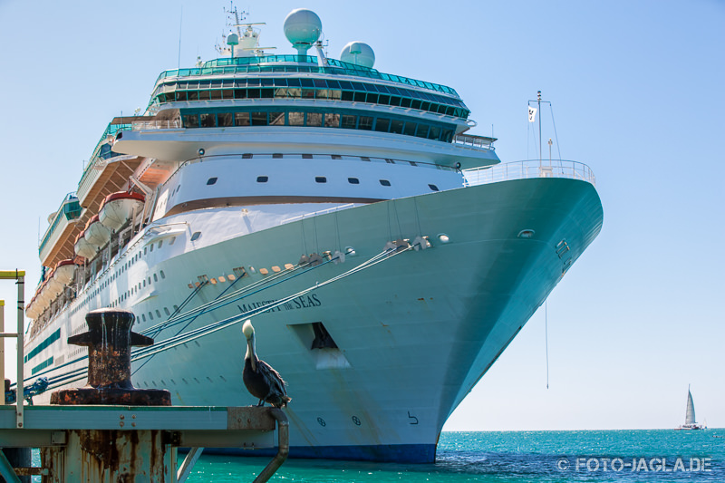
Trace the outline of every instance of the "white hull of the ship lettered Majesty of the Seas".
[[[430, 248], [389, 256], [256, 314], [254, 324], [257, 352], [288, 383], [293, 457], [430, 462], [449, 414], [596, 237], [603, 220], [590, 183], [551, 178], [383, 201], [261, 231], [250, 227], [256, 219], [275, 217], [273, 211], [214, 208], [156, 220], [111, 260], [92, 283], [95, 288], [87, 287], [34, 338], [33, 347], [61, 329], [55, 342], [27, 360], [26, 373], [35, 373], [30, 379], [85, 367], [85, 360], [63, 366], [86, 351], [65, 341], [84, 332], [84, 314], [95, 308], [132, 310], [134, 330], [144, 332], [167, 320], [175, 305], [185, 313], [225, 290], [228, 295], [273, 276], [273, 267], [284, 270], [303, 254], [354, 248], [355, 256], [344, 263], [294, 277], [277, 275], [279, 282], [231, 304], [147, 333], [163, 345], [181, 330], [322, 284], [380, 254], [391, 240], [427, 236]], [[523, 230], [533, 230], [533, 236], [519, 237]], [[196, 232], [200, 236], [192, 241]], [[439, 234], [449, 242], [442, 243]], [[248, 276], [229, 289], [228, 275], [242, 266]], [[216, 283], [196, 290], [205, 277]], [[324, 324], [337, 349], [311, 349], [314, 323]], [[240, 324], [231, 325], [133, 362], [132, 382], [169, 389], [179, 405], [253, 404], [241, 382], [245, 349]], [[49, 358], [51, 369], [37, 369]], [[85, 379], [69, 382], [83, 385]]]

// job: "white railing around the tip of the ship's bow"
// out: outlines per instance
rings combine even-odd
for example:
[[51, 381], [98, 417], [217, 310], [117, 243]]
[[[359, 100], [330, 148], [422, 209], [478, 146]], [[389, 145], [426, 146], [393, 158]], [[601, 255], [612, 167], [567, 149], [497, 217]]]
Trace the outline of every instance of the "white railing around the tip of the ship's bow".
[[592, 169], [584, 163], [562, 159], [529, 159], [486, 168], [464, 169], [463, 177], [465, 186], [527, 178], [581, 179], [596, 186]]

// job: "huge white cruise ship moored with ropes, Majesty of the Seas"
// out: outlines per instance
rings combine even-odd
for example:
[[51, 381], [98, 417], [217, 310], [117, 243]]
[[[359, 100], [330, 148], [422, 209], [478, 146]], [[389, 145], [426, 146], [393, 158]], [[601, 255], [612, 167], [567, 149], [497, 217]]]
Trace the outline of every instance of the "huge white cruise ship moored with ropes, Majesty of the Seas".
[[366, 43], [327, 56], [312, 11], [287, 15], [289, 54], [231, 18], [218, 58], [161, 72], [145, 111], [111, 120], [48, 218], [25, 384], [48, 379], [35, 403], [85, 385], [86, 349], [66, 341], [115, 307], [155, 340], [133, 353], [135, 387], [256, 404], [252, 319], [292, 397], [292, 457], [432, 462], [601, 230], [594, 174], [501, 163], [458, 92], [379, 72]]

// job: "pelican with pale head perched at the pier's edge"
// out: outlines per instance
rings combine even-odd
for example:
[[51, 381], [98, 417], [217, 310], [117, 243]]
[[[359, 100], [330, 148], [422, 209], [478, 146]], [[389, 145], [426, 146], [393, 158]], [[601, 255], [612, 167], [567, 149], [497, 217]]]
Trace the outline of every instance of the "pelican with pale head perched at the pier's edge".
[[247, 320], [242, 326], [242, 332], [247, 337], [247, 353], [244, 356], [244, 372], [242, 379], [247, 391], [259, 399], [257, 406], [264, 406], [265, 401], [275, 408], [286, 406], [292, 401], [287, 396], [285, 381], [272, 366], [256, 357], [255, 328], [252, 322]]

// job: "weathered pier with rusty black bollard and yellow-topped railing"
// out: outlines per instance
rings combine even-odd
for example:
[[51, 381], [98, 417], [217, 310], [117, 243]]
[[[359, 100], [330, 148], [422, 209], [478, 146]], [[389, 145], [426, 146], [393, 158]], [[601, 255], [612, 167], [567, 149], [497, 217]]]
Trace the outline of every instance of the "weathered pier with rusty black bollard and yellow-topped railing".
[[[150, 345], [153, 340], [131, 332], [134, 317], [127, 311], [93, 311], [86, 315], [89, 331], [69, 338], [69, 343], [89, 348], [87, 386], [54, 391], [50, 405], [24, 404], [24, 272], [3, 271], [0, 279], [18, 284], [16, 333], [5, 333], [5, 304], [0, 301], [0, 337], [18, 339], [15, 404], [5, 404], [5, 398], [0, 401], [0, 476], [5, 481], [21, 483], [39, 475], [43, 483], [182, 483], [204, 448], [276, 446], [274, 459], [255, 482], [267, 481], [285, 462], [289, 422], [284, 411], [171, 406], [169, 391], [134, 388], [131, 346]], [[1, 363], [0, 377], [5, 380]], [[8, 385], [5, 380], [6, 389]], [[21, 449], [12, 461], [5, 455], [5, 449], [11, 448]], [[40, 467], [28, 463], [32, 448], [40, 449]], [[189, 452], [177, 468], [179, 448]]]

